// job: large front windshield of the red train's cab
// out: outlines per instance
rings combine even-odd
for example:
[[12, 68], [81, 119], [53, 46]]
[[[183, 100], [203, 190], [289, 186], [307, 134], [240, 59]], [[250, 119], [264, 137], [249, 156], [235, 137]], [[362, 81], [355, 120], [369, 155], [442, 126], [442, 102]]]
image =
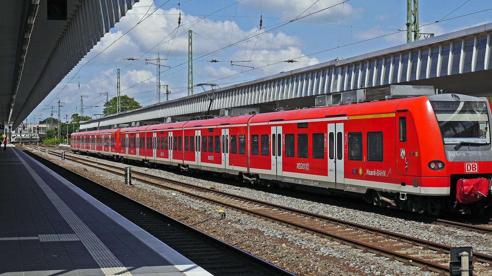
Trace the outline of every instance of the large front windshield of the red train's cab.
[[490, 143], [485, 101], [431, 101], [445, 144]]

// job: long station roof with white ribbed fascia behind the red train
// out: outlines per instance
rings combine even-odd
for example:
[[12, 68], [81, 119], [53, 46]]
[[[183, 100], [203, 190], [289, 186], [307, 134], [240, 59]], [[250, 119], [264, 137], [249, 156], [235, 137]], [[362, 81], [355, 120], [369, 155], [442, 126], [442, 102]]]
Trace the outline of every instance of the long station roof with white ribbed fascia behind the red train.
[[[433, 85], [472, 96], [491, 96], [492, 24], [480, 25], [399, 46], [331, 60], [214, 91], [82, 122], [81, 129], [109, 127], [211, 110], [272, 104], [313, 105], [313, 97], [389, 84]], [[307, 100], [306, 100], [307, 99]]]

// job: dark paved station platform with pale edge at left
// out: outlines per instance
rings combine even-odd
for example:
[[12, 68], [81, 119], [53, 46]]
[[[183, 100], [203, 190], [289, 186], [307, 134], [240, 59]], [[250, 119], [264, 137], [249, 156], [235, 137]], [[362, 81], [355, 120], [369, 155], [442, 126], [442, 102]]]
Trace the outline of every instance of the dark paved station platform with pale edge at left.
[[1, 276], [211, 276], [13, 145], [0, 177]]

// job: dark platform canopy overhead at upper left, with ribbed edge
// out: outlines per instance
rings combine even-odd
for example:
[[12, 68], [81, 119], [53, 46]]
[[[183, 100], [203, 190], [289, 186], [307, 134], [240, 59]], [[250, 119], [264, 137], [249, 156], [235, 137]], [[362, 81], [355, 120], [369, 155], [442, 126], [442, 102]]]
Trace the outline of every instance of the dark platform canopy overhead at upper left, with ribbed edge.
[[2, 1], [0, 124], [21, 124], [138, 1]]

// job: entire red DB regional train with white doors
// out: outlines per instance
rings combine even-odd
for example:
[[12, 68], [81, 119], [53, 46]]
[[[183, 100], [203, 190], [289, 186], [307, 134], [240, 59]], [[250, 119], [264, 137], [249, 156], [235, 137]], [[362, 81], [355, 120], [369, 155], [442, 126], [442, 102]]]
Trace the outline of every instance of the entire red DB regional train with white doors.
[[71, 148], [420, 213], [481, 213], [492, 202], [490, 120], [486, 98], [439, 94], [80, 132]]

